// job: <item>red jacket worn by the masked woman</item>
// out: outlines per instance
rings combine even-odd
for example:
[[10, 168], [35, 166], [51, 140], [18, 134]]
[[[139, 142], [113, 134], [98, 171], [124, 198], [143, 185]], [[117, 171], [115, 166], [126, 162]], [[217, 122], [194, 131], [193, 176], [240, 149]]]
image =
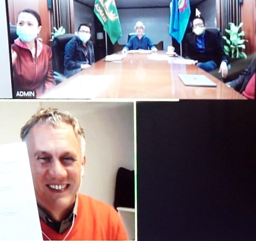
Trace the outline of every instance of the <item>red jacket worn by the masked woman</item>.
[[51, 89], [55, 85], [52, 67], [52, 50], [49, 46], [36, 40], [36, 58], [31, 51], [18, 38], [11, 46], [17, 54], [13, 63], [13, 81], [16, 96], [17, 90], [36, 90], [36, 96]]

